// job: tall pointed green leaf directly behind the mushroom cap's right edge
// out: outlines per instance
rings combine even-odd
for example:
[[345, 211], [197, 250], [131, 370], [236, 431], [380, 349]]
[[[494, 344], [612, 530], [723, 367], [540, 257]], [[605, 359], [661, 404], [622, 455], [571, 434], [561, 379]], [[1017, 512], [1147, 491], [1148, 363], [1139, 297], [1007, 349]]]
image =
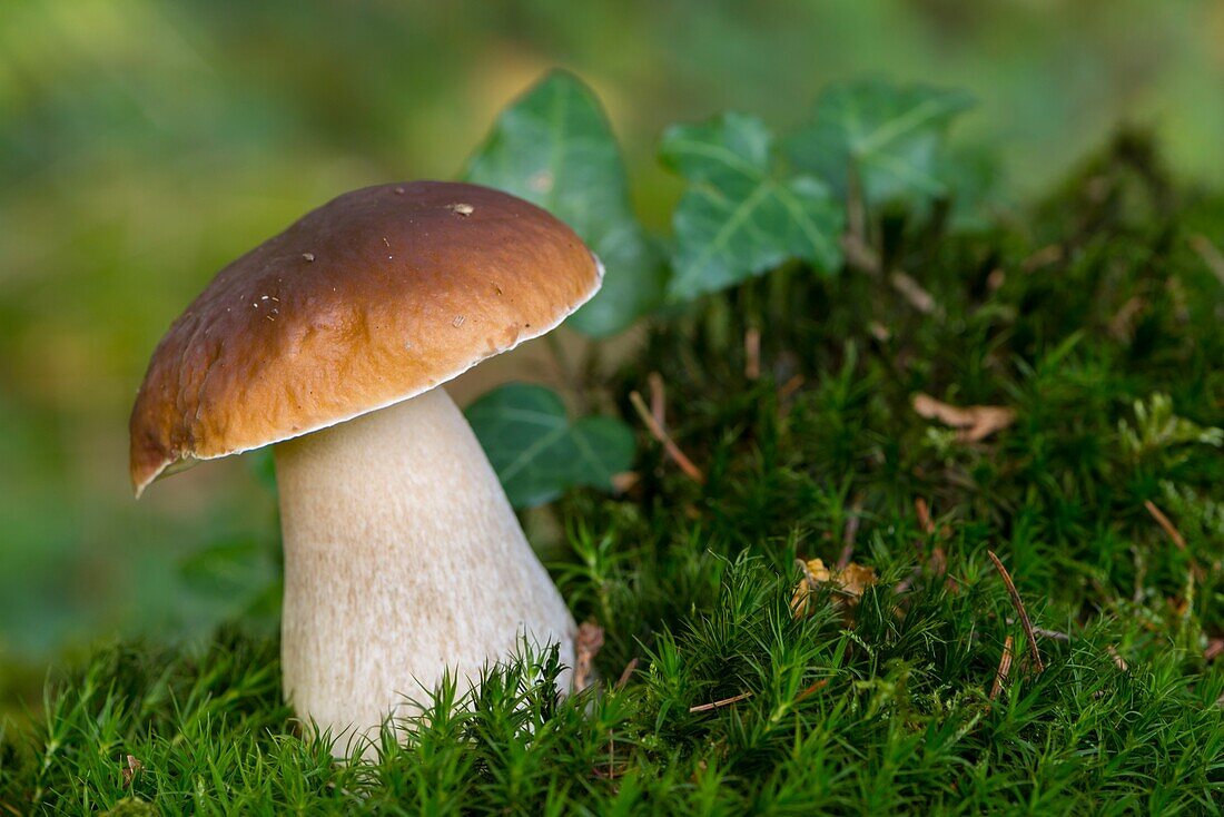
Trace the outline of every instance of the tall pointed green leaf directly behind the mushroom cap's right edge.
[[603, 262], [603, 287], [573, 328], [616, 334], [662, 299], [662, 260], [634, 218], [616, 137], [575, 76], [553, 71], [506, 109], [464, 178], [543, 207]]

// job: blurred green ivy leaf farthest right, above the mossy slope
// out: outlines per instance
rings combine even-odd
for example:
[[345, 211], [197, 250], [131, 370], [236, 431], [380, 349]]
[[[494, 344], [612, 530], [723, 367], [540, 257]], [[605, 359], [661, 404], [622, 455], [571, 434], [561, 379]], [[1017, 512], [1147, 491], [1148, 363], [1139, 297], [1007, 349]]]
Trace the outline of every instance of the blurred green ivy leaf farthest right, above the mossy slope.
[[961, 91], [880, 80], [836, 85], [816, 99], [787, 153], [796, 168], [818, 174], [842, 196], [853, 169], [868, 205], [941, 197], [947, 126], [972, 107]]

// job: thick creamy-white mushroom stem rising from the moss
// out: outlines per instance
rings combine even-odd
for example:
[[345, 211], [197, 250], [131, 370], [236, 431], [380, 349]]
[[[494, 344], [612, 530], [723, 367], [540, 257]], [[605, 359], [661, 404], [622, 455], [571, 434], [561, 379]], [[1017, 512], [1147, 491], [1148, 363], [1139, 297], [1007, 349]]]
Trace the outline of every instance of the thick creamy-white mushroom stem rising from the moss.
[[573, 666], [565, 603], [442, 388], [279, 443], [275, 458], [285, 695], [337, 751], [411, 714], [447, 669], [468, 688], [524, 634], [559, 642]]

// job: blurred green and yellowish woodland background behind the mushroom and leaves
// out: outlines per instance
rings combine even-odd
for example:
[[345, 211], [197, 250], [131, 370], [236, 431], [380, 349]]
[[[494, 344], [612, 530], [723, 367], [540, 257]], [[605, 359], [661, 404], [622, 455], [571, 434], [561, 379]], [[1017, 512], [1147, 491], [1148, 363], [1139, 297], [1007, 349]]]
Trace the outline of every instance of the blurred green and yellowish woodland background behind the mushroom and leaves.
[[[1207, 0], [7, 0], [0, 697], [95, 638], [200, 632], [252, 603], [275, 540], [257, 469], [131, 497], [149, 353], [223, 263], [307, 208], [454, 176], [553, 66], [602, 96], [656, 232], [678, 195], [654, 160], [665, 125], [733, 108], [786, 127], [867, 73], [973, 92], [957, 138], [999, 153], [1018, 201], [1122, 122], [1154, 130], [1184, 179], [1224, 181], [1224, 4]], [[252, 576], [185, 574], [217, 546]]]

